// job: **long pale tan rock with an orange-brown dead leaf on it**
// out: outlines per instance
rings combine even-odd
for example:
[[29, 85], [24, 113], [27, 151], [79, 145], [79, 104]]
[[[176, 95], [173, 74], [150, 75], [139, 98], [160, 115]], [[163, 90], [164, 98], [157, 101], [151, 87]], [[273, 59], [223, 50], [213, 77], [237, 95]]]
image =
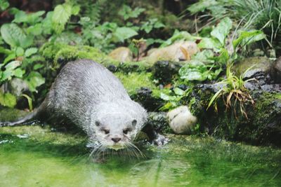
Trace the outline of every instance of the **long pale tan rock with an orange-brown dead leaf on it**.
[[194, 41], [179, 41], [164, 48], [154, 50], [148, 56], [148, 62], [155, 63], [159, 60], [190, 60], [190, 57], [198, 52], [197, 44]]

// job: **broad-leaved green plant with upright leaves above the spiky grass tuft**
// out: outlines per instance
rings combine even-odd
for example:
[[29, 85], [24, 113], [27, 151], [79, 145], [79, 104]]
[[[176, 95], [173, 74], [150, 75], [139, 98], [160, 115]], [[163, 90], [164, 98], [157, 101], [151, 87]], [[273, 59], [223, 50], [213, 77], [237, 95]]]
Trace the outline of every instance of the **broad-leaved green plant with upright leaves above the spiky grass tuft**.
[[264, 39], [261, 31], [242, 31], [232, 46], [228, 46], [226, 39], [230, 35], [233, 22], [230, 18], [223, 18], [221, 22], [211, 30], [209, 37], [202, 37], [198, 47], [202, 52], [192, 57], [192, 61], [185, 64], [180, 70], [181, 78], [186, 81], [215, 80], [223, 71], [223, 66], [228, 62], [235, 62], [237, 52], [245, 46]]

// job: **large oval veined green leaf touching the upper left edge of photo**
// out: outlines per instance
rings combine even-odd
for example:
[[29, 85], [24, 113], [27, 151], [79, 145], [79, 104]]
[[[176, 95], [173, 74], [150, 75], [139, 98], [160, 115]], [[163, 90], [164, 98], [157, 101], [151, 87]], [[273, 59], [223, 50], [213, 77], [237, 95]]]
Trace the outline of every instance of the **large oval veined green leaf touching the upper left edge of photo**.
[[14, 23], [2, 25], [0, 32], [4, 41], [12, 48], [27, 48], [33, 42], [32, 36], [26, 36], [22, 29], [20, 29], [20, 27]]

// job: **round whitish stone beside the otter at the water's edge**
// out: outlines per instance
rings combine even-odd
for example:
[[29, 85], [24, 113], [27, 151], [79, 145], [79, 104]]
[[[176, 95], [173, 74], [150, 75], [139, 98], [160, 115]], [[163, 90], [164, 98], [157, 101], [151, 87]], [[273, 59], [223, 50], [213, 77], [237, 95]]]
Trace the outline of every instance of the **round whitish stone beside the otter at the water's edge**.
[[190, 113], [188, 106], [178, 108], [167, 113], [169, 125], [176, 134], [191, 134], [197, 118]]

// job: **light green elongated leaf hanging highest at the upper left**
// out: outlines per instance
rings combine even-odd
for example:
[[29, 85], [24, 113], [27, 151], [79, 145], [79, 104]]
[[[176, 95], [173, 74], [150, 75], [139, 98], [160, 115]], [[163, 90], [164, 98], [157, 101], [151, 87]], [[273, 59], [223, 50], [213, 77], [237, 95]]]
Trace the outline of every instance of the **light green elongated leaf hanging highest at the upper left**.
[[67, 23], [68, 19], [70, 19], [71, 13], [72, 7], [69, 4], [55, 6], [52, 18], [52, 25], [55, 32], [63, 32], [65, 29], [65, 24]]

